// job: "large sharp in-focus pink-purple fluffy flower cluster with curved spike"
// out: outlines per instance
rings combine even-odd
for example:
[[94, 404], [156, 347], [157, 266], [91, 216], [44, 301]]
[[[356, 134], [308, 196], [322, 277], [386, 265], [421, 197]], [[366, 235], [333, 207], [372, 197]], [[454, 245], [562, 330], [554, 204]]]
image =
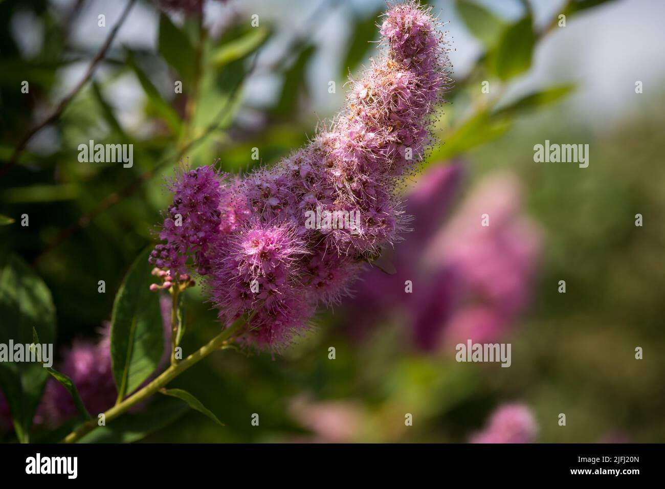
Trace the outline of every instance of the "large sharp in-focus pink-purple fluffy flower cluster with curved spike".
[[[384, 53], [352, 80], [346, 108], [307, 146], [245, 178], [205, 166], [176, 177], [160, 234], [166, 244], [151, 263], [182, 273], [192, 257], [225, 325], [253, 312], [248, 343], [288, 343], [405, 228], [398, 191], [428, 146], [448, 57], [430, 9], [415, 3], [392, 7], [381, 33]], [[317, 210], [359, 218], [352, 228], [307, 226]]]

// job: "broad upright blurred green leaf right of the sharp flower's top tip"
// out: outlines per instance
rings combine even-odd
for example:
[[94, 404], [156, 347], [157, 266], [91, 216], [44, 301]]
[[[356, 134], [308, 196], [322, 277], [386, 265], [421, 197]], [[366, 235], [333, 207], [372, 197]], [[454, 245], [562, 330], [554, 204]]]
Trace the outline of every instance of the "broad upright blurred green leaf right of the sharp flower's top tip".
[[503, 31], [488, 58], [490, 69], [503, 81], [524, 73], [531, 67], [535, 43], [533, 21], [531, 15], [526, 15]]

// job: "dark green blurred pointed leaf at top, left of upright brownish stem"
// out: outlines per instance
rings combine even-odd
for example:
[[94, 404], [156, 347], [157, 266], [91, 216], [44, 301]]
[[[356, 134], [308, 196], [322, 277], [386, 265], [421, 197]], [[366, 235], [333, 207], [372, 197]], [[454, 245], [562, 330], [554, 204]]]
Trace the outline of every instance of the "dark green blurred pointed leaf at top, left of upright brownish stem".
[[194, 81], [196, 50], [184, 31], [181, 31], [168, 15], [160, 14], [159, 53], [182, 78], [187, 87]]

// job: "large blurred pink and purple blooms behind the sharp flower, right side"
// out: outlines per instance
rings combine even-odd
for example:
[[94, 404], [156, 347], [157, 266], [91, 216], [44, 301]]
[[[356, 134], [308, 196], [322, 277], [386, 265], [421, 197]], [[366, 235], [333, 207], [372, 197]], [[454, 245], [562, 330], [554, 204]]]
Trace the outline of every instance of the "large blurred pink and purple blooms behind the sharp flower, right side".
[[370, 271], [350, 305], [361, 329], [389, 314], [410, 325], [420, 349], [483, 343], [504, 334], [527, 305], [541, 237], [522, 214], [519, 182], [485, 178], [444, 224], [461, 176], [459, 162], [432, 168], [408, 196], [414, 232], [388, 257], [397, 273]]

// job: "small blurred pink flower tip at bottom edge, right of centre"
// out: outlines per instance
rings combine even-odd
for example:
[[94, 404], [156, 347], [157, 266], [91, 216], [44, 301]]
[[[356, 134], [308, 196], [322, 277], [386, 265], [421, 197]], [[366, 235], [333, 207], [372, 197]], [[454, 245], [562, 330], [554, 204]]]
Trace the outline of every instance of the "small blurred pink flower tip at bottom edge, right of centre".
[[531, 409], [521, 404], [497, 408], [485, 428], [474, 434], [471, 443], [533, 443], [537, 424]]

